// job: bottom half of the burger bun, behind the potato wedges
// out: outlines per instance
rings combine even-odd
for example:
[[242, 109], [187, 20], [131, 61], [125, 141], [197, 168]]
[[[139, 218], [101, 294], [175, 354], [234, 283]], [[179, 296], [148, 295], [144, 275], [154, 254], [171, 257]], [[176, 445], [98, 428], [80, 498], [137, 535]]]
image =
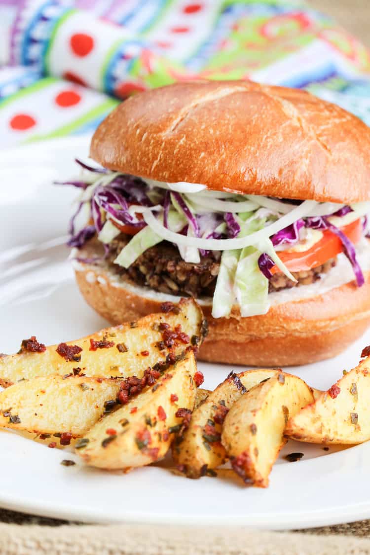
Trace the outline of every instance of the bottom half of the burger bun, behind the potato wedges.
[[[177, 302], [146, 287], [136, 287], [106, 269], [79, 264], [75, 269], [82, 295], [111, 324], [159, 312], [161, 302]], [[272, 306], [265, 315], [214, 319], [201, 303], [209, 335], [198, 358], [246, 366], [295, 366], [329, 359], [346, 349], [370, 325], [370, 273], [357, 287], [351, 281], [325, 294]]]

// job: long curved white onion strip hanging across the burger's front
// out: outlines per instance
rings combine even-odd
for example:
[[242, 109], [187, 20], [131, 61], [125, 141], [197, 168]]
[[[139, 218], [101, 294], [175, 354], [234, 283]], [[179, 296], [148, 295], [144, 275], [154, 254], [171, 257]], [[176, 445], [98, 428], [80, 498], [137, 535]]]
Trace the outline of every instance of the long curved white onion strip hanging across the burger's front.
[[169, 229], [166, 229], [159, 220], [155, 218], [150, 210], [146, 210], [143, 213], [144, 220], [156, 234], [161, 238], [171, 241], [171, 243], [176, 243], [178, 245], [195, 246], [197, 249], [205, 250], [232, 250], [232, 249], [244, 249], [245, 246], [255, 245], [263, 239], [267, 239], [271, 235], [277, 233], [286, 226], [293, 224], [300, 218], [305, 218], [311, 214], [311, 211], [316, 206], [315, 200], [305, 200], [299, 206], [296, 206], [288, 214], [282, 216], [282, 218], [275, 221], [273, 224], [268, 225], [264, 229], [260, 229], [255, 233], [246, 235], [245, 237], [235, 238], [235, 239], [202, 239], [199, 237], [187, 237], [179, 233], [174, 233]]

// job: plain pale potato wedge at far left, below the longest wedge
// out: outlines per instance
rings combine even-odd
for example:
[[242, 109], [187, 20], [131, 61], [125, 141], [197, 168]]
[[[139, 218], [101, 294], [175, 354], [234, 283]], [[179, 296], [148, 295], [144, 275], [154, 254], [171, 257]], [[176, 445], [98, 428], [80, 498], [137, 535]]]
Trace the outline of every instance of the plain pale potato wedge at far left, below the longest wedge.
[[[42, 376], [0, 393], [0, 426], [38, 434], [82, 436], [118, 395], [120, 380], [84, 376]], [[50, 440], [53, 441], [53, 440]]]

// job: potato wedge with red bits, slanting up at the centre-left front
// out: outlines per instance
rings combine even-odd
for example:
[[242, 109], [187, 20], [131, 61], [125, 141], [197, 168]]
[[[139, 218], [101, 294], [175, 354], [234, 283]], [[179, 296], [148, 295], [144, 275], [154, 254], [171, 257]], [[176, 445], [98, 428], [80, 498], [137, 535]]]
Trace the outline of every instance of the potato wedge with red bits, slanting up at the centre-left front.
[[182, 425], [176, 412], [194, 408], [196, 374], [194, 353], [184, 353], [154, 387], [95, 424], [76, 443], [77, 453], [88, 465], [112, 470], [158, 461]]

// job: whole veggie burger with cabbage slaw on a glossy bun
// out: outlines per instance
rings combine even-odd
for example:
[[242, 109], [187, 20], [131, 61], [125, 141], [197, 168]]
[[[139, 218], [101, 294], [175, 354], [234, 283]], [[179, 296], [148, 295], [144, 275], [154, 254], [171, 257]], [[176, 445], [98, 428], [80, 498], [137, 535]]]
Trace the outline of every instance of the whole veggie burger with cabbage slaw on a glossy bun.
[[183, 82], [121, 103], [90, 157], [69, 245], [112, 324], [192, 296], [200, 359], [251, 366], [327, 359], [368, 326], [370, 130], [354, 115], [302, 90]]

